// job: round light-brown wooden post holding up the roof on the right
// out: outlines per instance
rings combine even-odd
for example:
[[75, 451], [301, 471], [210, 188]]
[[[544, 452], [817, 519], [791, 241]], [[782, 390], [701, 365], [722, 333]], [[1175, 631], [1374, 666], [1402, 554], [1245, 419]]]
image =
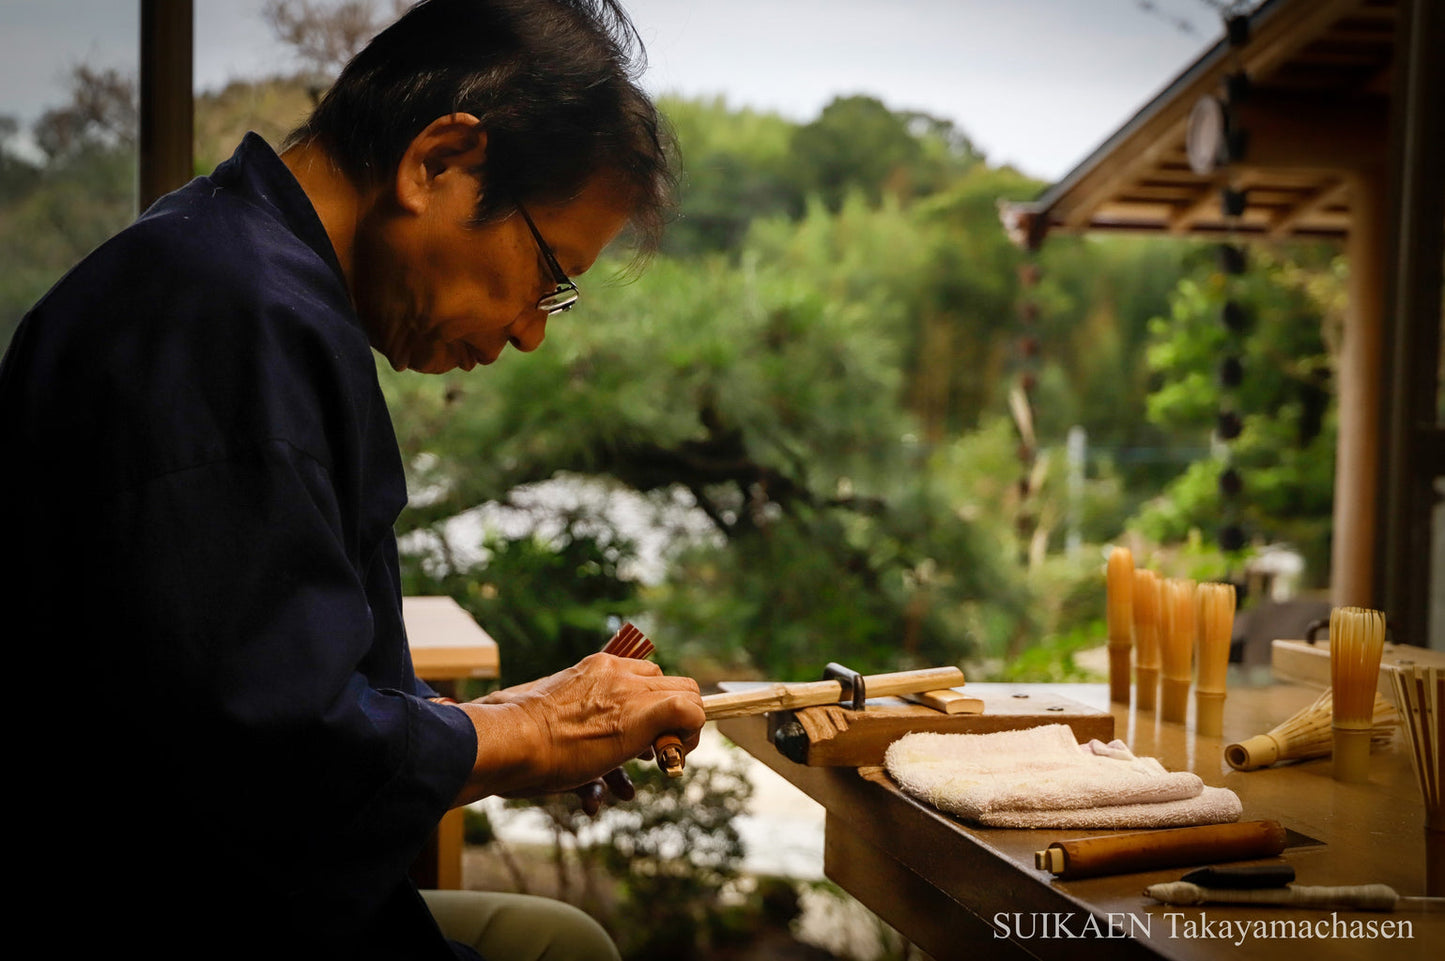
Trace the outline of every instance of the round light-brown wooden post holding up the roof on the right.
[[1380, 355], [1384, 321], [1384, 189], [1376, 169], [1350, 176], [1350, 309], [1340, 345], [1340, 438], [1331, 603], [1374, 607], [1380, 465]]

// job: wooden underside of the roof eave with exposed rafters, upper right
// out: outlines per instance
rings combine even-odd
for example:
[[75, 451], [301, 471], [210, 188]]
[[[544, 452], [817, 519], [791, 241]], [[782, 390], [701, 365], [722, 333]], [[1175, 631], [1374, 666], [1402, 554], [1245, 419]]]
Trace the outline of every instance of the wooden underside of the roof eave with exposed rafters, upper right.
[[[1064, 230], [1341, 238], [1350, 179], [1386, 162], [1394, 0], [1267, 0], [1248, 36], [1221, 39], [1062, 181], [1004, 210], [1020, 241]], [[1227, 78], [1243, 72], [1243, 92]], [[1230, 104], [1246, 133], [1225, 168], [1195, 173], [1185, 130], [1195, 103]], [[1244, 191], [1227, 217], [1221, 189]]]

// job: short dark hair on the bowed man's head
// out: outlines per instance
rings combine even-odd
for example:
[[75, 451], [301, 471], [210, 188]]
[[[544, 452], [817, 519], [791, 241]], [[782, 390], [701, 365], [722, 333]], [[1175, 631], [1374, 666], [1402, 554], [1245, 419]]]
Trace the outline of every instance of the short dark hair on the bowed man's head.
[[371, 186], [426, 124], [470, 113], [487, 132], [478, 223], [611, 173], [634, 192], [631, 223], [652, 250], [673, 178], [636, 79], [643, 56], [617, 0], [422, 0], [347, 64], [288, 145], [319, 143]]

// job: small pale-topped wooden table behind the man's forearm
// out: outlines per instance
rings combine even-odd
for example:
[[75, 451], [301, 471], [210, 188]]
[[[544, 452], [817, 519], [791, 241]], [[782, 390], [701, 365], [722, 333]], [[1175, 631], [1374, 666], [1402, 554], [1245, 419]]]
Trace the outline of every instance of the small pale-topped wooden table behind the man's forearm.
[[[496, 678], [500, 671], [497, 642], [461, 604], [449, 597], [403, 597], [402, 617], [412, 649], [412, 669], [441, 694], [455, 694], [467, 678]], [[418, 887], [461, 887], [461, 808], [448, 811], [412, 866]]]

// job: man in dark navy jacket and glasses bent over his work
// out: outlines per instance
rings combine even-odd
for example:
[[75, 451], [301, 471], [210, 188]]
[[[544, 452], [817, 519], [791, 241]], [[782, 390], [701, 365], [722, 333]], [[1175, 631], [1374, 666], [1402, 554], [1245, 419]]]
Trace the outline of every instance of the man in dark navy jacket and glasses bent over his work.
[[[20, 325], [6, 590], [52, 627], [7, 645], [12, 770], [14, 824], [46, 845], [22, 879], [68, 903], [48, 952], [474, 957], [407, 880], [448, 808], [627, 796], [618, 764], [663, 733], [696, 744], [696, 684], [647, 662], [594, 655], [461, 705], [413, 676], [371, 354], [447, 371], [535, 350], [623, 227], [656, 238], [666, 159], [633, 40], [610, 0], [418, 4], [280, 156], [247, 136]], [[499, 960], [616, 955], [556, 909], [438, 918]]]

